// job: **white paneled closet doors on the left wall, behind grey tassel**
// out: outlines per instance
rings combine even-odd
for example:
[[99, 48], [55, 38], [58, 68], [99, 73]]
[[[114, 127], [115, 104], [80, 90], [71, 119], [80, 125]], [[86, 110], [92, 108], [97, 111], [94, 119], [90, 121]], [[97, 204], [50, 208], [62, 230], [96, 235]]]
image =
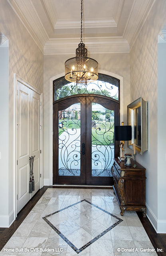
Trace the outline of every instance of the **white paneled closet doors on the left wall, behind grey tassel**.
[[[17, 213], [40, 189], [40, 95], [17, 82]], [[35, 191], [29, 194], [29, 157], [34, 156]]]

